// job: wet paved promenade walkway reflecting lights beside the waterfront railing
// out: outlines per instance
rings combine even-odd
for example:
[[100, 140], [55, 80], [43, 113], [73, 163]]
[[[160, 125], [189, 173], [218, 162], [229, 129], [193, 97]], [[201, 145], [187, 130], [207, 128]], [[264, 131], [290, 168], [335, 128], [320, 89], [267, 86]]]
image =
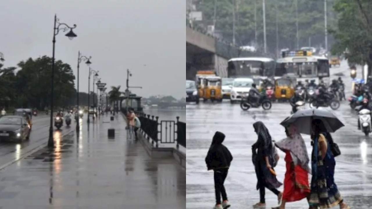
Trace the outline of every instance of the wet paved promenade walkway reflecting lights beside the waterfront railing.
[[91, 121], [89, 131], [86, 118], [80, 122], [78, 136], [56, 131], [54, 150], [44, 147], [0, 171], [0, 209], [185, 208], [185, 170], [127, 140], [121, 116]]

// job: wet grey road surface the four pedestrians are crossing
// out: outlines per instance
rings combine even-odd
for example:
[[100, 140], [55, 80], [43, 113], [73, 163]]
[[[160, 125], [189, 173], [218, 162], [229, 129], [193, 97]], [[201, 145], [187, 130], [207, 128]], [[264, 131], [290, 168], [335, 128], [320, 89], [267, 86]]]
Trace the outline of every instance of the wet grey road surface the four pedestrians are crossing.
[[[360, 72], [359, 69], [359, 75]], [[346, 83], [346, 97], [350, 96], [351, 82], [346, 62], [343, 61], [340, 68], [331, 68], [331, 74], [334, 73], [346, 75], [343, 77]], [[207, 171], [204, 162], [215, 131], [225, 133], [224, 144], [234, 157], [225, 181], [231, 208], [252, 208], [252, 205], [259, 202], [256, 174], [251, 162], [251, 145], [257, 139], [252, 124], [261, 120], [269, 129], [272, 138], [280, 140], [285, 138], [285, 132], [279, 123], [289, 116], [290, 111], [288, 103], [274, 103], [269, 111], [251, 109], [246, 112], [241, 110], [239, 105], [231, 105], [228, 101], [222, 104], [187, 105], [186, 208], [212, 208], [215, 203], [213, 171]], [[348, 102], [341, 102], [340, 109], [333, 112], [345, 124], [345, 127], [332, 135], [342, 153], [336, 158], [336, 184], [350, 207], [371, 208], [372, 138], [364, 136], [357, 130], [357, 115], [350, 109]], [[308, 152], [311, 153], [310, 136], [303, 137], [307, 142]], [[279, 154], [280, 161], [276, 173], [278, 179], [283, 181], [285, 154], [283, 152]], [[283, 187], [279, 190], [282, 191]], [[267, 208], [277, 205], [276, 196], [269, 190], [266, 190], [266, 205]], [[287, 204], [287, 208], [307, 207], [306, 200]]]

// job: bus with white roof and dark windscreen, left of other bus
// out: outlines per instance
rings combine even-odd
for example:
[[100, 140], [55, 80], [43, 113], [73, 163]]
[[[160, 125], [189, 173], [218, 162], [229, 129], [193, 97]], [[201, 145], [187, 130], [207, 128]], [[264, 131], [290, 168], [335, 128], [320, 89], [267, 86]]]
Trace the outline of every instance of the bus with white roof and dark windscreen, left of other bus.
[[232, 58], [227, 63], [227, 77], [273, 77], [275, 60], [266, 57]]

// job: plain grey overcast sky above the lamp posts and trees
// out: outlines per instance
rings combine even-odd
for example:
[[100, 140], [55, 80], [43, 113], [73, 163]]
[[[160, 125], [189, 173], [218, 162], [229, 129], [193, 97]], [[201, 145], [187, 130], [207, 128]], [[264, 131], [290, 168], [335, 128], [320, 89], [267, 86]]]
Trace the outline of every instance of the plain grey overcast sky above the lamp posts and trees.
[[[2, 0], [0, 52], [4, 67], [29, 57], [52, 56], [54, 14], [61, 23], [77, 25], [77, 38], [60, 33], [55, 57], [67, 62], [76, 75], [78, 50], [92, 56], [107, 86], [125, 90], [126, 69], [130, 86], [140, 96], [185, 94], [184, 0]], [[80, 65], [80, 91], [88, 91], [88, 67]], [[76, 82], [75, 82], [76, 83]]]

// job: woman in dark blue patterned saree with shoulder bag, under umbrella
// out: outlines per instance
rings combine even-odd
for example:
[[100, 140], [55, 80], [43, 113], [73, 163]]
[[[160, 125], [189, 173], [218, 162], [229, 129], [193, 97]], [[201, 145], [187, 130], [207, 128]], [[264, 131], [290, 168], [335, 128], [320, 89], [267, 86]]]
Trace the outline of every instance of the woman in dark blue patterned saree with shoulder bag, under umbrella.
[[312, 120], [312, 154], [311, 154], [311, 192], [308, 200], [310, 209], [349, 208], [344, 202], [336, 183], [334, 183], [334, 167], [336, 161], [330, 149], [330, 133], [321, 119]]

